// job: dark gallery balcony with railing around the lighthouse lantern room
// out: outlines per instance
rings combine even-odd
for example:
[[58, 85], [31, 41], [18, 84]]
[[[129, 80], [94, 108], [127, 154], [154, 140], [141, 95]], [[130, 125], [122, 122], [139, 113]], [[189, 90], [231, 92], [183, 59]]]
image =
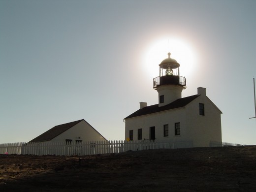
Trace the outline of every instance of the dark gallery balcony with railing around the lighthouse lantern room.
[[181, 85], [186, 89], [186, 78], [176, 75], [165, 75], [153, 79], [153, 88], [157, 89], [158, 85]]

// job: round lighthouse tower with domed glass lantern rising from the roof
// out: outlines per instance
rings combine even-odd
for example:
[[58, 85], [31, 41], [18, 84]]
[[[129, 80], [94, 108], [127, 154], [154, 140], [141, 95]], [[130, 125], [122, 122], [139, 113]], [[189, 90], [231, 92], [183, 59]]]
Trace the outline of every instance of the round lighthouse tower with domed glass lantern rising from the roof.
[[181, 98], [182, 90], [186, 89], [186, 78], [180, 76], [180, 64], [170, 56], [168, 53], [168, 58], [159, 64], [159, 76], [153, 79], [159, 107]]

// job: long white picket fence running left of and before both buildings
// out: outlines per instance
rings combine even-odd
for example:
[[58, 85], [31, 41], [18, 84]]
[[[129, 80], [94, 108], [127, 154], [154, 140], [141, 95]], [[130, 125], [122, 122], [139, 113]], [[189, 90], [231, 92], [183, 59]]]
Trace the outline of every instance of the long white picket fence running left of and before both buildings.
[[191, 148], [192, 141], [140, 140], [140, 141], [90, 141], [76, 143], [8, 143], [0, 144], [0, 154], [23, 155], [95, 155], [121, 153], [148, 149]]

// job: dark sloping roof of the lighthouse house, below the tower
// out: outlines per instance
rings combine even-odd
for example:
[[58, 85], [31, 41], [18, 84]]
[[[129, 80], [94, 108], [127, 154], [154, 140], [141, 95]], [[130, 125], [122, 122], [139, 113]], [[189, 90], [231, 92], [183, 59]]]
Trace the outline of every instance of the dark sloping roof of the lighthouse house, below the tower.
[[125, 119], [132, 118], [132, 117], [138, 117], [141, 115], [147, 115], [147, 114], [151, 114], [151, 113], [157, 113], [160, 111], [166, 111], [166, 110], [175, 109], [175, 108], [179, 108], [179, 107], [184, 107], [187, 104], [189, 104], [192, 100], [194, 100], [196, 97], [198, 97], [198, 95], [179, 98], [179, 99], [177, 99], [167, 105], [161, 106], [161, 107], [159, 107], [158, 104], [147, 106], [147, 107], [144, 107], [142, 109], [135, 111], [134, 113], [130, 114]]

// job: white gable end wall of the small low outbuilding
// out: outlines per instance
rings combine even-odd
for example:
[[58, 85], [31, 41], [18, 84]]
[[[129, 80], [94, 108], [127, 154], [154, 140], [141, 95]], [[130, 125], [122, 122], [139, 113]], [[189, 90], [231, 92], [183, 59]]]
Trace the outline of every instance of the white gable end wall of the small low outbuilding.
[[75, 142], [75, 140], [82, 140], [83, 142], [106, 141], [103, 136], [84, 120], [52, 139], [52, 142], [65, 142], [66, 139], [71, 139], [73, 142]]

